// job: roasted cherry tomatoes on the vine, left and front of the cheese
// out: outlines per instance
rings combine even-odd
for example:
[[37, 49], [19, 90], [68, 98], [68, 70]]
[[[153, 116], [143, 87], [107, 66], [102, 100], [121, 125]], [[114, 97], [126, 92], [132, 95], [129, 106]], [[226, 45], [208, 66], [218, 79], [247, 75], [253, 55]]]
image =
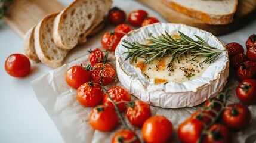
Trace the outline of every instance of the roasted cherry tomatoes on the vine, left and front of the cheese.
[[[117, 132], [112, 142], [140, 142], [121, 116], [121, 112], [125, 111], [129, 123], [142, 128], [144, 141], [168, 141], [172, 134], [172, 123], [166, 117], [151, 117], [149, 104], [140, 100], [131, 101], [131, 95], [122, 86], [105, 88], [115, 79], [113, 67], [106, 63], [107, 55], [108, 50], [94, 49], [89, 55], [91, 65], [72, 66], [66, 71], [66, 82], [77, 89], [77, 100], [85, 107], [94, 107], [89, 117], [92, 128], [109, 132], [118, 125], [119, 118], [125, 129]], [[165, 132], [164, 135], [160, 135], [160, 131]]]

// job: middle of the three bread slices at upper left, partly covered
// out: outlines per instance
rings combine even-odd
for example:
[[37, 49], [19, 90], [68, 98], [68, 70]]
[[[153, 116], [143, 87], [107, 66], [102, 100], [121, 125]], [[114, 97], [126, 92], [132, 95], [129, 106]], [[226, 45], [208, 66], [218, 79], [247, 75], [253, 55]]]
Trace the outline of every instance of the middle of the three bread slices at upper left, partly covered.
[[60, 67], [69, 50], [60, 49], [53, 41], [53, 23], [58, 13], [44, 17], [36, 26], [34, 39], [39, 60], [50, 67]]

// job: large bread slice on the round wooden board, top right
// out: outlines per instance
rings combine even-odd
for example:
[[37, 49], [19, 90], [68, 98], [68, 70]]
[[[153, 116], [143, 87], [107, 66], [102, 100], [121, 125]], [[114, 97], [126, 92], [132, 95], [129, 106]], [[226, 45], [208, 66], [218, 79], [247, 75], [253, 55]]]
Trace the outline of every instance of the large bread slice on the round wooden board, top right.
[[[223, 25], [233, 21], [238, 0], [161, 0], [170, 8], [207, 24]], [[178, 18], [178, 17], [177, 17]]]

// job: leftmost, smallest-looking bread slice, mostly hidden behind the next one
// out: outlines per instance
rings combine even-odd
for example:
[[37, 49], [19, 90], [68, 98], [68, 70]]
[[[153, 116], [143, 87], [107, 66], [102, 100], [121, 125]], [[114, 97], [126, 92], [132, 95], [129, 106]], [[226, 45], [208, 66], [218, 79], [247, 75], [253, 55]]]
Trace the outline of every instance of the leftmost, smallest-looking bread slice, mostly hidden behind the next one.
[[24, 36], [24, 44], [23, 44], [23, 49], [25, 52], [25, 55], [35, 63], [38, 63], [40, 60], [38, 58], [38, 55], [36, 55], [36, 50], [35, 50], [35, 41], [34, 41], [34, 32], [35, 32], [35, 27], [30, 28], [26, 35]]

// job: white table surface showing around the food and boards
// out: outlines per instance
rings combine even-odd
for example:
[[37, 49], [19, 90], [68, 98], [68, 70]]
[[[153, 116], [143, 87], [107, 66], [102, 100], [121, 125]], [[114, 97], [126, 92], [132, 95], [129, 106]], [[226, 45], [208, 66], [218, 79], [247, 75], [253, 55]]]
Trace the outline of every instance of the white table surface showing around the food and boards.
[[[61, 0], [67, 5], [71, 1]], [[132, 2], [132, 4], [130, 4]], [[160, 21], [165, 20], [144, 5], [134, 1], [114, 0], [113, 5], [121, 7], [130, 13], [132, 10], [143, 8]], [[104, 32], [114, 27], [108, 27], [99, 33], [93, 39], [95, 41], [92, 48], [100, 46], [99, 39]], [[218, 36], [224, 43], [238, 42], [245, 47], [245, 41], [252, 33], [256, 33], [256, 17], [251, 23], [248, 23], [242, 29], [227, 35]], [[82, 55], [83, 46], [72, 51], [67, 57], [65, 63], [72, 61]], [[58, 129], [48, 116], [44, 107], [39, 103], [33, 92], [30, 82], [39, 76], [53, 70], [51, 67], [42, 63], [32, 63], [30, 74], [24, 78], [15, 78], [9, 76], [5, 69], [4, 63], [6, 58], [14, 53], [24, 54], [23, 39], [0, 20], [0, 143], [4, 142], [64, 142]]]

